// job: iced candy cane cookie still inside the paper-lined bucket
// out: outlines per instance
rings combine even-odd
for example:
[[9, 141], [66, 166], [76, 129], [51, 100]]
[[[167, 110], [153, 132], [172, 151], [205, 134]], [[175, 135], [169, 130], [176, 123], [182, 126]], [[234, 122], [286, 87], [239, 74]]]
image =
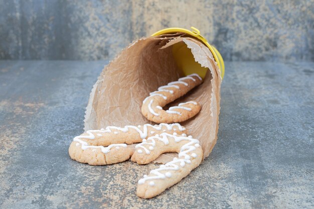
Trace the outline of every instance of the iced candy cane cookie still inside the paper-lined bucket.
[[202, 78], [194, 73], [178, 81], [161, 86], [158, 91], [151, 92], [143, 101], [141, 112], [150, 121], [156, 123], [182, 122], [192, 118], [201, 110], [196, 101], [180, 103], [178, 106], [163, 110], [163, 107], [188, 93], [203, 82]]

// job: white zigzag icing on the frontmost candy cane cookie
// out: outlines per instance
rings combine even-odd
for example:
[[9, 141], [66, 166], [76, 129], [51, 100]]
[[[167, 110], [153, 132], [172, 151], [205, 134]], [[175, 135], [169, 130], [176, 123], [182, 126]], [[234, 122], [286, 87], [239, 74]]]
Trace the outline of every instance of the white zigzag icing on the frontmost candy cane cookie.
[[[186, 136], [177, 136], [177, 135], [171, 135], [168, 133], [162, 133], [160, 136], [152, 136], [149, 137], [145, 142], [142, 142], [140, 144], [137, 144], [135, 147], [136, 148], [143, 148], [146, 152], [146, 154], [149, 154], [150, 151], [146, 149], [143, 144], [149, 144], [151, 146], [155, 145], [155, 139], [163, 141], [165, 144], [169, 144], [168, 136], [173, 137], [175, 139], [175, 142], [178, 143], [183, 140], [188, 140], [189, 142], [184, 144], [179, 152], [179, 157], [184, 157], [183, 158], [177, 158], [175, 157], [172, 161], [166, 163], [165, 165], [161, 165], [160, 168], [154, 169], [150, 171], [150, 174], [153, 174], [154, 176], [147, 176], [144, 175], [143, 178], [139, 179], [138, 184], [143, 184], [145, 183], [146, 180], [153, 180], [153, 179], [165, 179], [166, 177], [171, 177], [170, 172], [165, 172], [161, 173], [160, 171], [171, 171], [171, 170], [179, 170], [180, 167], [184, 167], [186, 163], [190, 164], [191, 163], [191, 156], [192, 157], [197, 157], [196, 153], [191, 153], [191, 156], [188, 154], [189, 152], [192, 152], [196, 149], [196, 147], [199, 147], [199, 140], [191, 138], [191, 136], [186, 137]], [[151, 142], [147, 142], [151, 141]], [[147, 151], [146, 151], [147, 150]], [[179, 165], [176, 163], [180, 163]], [[152, 183], [151, 183], [152, 184]], [[149, 184], [149, 185], [151, 185]], [[154, 185], [154, 184], [153, 184]]]

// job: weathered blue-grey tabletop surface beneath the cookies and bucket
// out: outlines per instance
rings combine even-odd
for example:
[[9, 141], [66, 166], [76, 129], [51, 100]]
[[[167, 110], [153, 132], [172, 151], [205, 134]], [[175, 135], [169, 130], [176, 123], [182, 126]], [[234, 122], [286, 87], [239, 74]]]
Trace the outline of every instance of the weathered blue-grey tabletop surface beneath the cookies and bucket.
[[314, 63], [226, 62], [218, 141], [153, 199], [154, 164], [70, 159], [106, 61], [0, 61], [0, 208], [313, 208]]

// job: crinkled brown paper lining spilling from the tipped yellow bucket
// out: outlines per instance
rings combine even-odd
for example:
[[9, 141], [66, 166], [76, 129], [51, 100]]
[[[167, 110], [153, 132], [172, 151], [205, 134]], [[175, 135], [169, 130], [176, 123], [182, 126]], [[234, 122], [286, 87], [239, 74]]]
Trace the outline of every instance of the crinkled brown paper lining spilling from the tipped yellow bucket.
[[[169, 106], [196, 100], [202, 110], [182, 122], [190, 135], [200, 140], [204, 158], [217, 140], [220, 111], [220, 70], [209, 49], [200, 41], [184, 34], [163, 35], [134, 41], [111, 61], [98, 77], [86, 107], [84, 130], [106, 126], [154, 124], [140, 112], [142, 101], [158, 87], [177, 81], [182, 74], [172, 55], [172, 45], [184, 42], [202, 67], [207, 69], [203, 84]], [[134, 147], [134, 145], [131, 145]], [[161, 155], [155, 162], [165, 163], [174, 153]]]

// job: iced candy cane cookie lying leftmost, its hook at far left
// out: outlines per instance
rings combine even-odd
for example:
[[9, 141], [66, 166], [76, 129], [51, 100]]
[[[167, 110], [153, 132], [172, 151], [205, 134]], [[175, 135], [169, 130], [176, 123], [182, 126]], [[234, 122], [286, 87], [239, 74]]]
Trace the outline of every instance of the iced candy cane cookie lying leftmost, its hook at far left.
[[125, 161], [133, 154], [126, 144], [138, 143], [146, 137], [161, 133], [186, 133], [178, 123], [143, 126], [108, 126], [105, 129], [89, 130], [76, 136], [69, 147], [70, 157], [90, 165], [107, 165]]

